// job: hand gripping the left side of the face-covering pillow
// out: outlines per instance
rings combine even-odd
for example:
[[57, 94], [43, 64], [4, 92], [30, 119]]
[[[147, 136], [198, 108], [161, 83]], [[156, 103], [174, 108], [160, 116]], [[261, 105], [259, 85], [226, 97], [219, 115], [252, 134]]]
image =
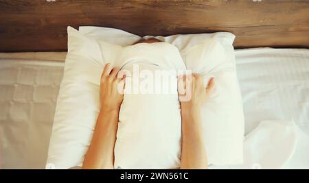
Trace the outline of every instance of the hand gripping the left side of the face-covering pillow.
[[112, 68], [109, 63], [105, 64], [100, 83], [101, 111], [119, 110], [124, 99], [124, 83], [119, 69]]

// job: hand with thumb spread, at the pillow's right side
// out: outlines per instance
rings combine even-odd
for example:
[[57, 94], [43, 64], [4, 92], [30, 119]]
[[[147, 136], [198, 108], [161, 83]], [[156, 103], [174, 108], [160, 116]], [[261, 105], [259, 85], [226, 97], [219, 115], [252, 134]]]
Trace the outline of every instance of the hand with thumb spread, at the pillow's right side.
[[187, 95], [188, 92], [191, 91], [190, 100], [180, 100], [181, 111], [200, 111], [203, 103], [205, 103], [205, 101], [209, 99], [210, 95], [214, 92], [214, 77], [211, 77], [207, 88], [204, 88], [201, 75], [192, 74], [191, 77], [181, 75], [178, 77], [178, 90], [180, 99], [183, 95]]

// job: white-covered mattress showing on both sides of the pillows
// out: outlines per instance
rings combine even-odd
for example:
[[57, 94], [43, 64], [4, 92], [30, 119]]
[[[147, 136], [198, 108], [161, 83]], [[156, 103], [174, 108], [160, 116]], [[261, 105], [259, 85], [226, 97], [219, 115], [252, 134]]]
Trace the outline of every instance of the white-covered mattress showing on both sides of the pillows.
[[[0, 53], [1, 168], [45, 167], [65, 54]], [[237, 50], [236, 63], [246, 133], [294, 119], [304, 133], [287, 168], [309, 169], [309, 50]]]

